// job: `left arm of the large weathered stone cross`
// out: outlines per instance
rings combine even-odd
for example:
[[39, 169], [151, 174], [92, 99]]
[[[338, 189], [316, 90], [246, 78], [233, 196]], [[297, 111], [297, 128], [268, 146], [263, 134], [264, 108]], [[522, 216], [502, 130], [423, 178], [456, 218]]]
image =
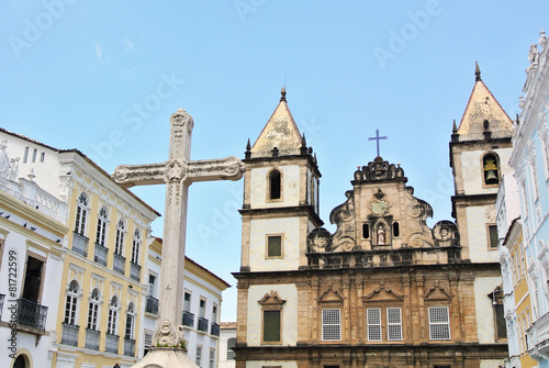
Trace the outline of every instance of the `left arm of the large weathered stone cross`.
[[166, 182], [166, 163], [146, 165], [120, 165], [112, 179], [124, 188]]

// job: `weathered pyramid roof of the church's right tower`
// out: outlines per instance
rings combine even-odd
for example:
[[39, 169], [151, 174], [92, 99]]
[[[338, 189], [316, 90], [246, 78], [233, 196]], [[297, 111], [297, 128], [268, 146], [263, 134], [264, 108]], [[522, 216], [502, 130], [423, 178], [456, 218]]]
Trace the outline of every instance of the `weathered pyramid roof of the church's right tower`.
[[511, 118], [482, 81], [478, 63], [474, 69], [474, 87], [457, 130], [459, 141], [484, 140], [486, 132], [494, 138], [511, 136]]

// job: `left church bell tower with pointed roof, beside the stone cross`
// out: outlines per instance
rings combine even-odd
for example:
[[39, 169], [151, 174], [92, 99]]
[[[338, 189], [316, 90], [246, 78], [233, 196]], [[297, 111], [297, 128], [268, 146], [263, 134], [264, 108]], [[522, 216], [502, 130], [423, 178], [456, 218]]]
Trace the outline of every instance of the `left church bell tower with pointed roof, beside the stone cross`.
[[321, 172], [288, 108], [285, 89], [259, 134], [246, 146], [240, 271], [306, 266], [306, 235], [318, 218]]

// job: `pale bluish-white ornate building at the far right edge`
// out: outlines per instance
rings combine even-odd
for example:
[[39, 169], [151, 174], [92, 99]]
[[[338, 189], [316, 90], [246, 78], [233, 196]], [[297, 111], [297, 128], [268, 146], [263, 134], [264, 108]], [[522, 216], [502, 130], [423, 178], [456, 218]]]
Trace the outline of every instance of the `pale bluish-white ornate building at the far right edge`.
[[[539, 44], [539, 47], [538, 47]], [[525, 348], [539, 367], [549, 367], [549, 63], [547, 37], [541, 30], [538, 44], [529, 48], [530, 65], [520, 97], [522, 112], [513, 138], [511, 166], [520, 197], [520, 218], [526, 252], [525, 268], [531, 310], [526, 321]], [[518, 316], [517, 316], [518, 317]]]

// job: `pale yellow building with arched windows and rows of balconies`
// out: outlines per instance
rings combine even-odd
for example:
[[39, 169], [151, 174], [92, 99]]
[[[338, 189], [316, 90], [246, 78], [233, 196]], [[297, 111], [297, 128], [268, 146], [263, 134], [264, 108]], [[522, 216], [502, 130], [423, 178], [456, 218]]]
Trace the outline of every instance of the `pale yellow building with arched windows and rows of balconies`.
[[159, 213], [78, 150], [59, 153], [69, 182], [68, 249], [53, 367], [137, 361], [150, 223]]

